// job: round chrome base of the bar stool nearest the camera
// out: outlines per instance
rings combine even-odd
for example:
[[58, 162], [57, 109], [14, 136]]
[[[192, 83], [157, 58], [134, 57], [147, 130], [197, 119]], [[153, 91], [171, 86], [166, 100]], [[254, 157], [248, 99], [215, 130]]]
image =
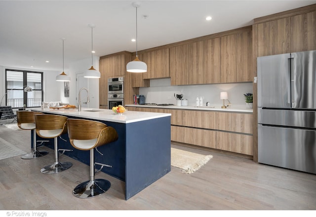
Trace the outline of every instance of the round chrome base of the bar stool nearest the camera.
[[98, 196], [109, 190], [111, 182], [103, 179], [85, 181], [75, 187], [73, 194], [79, 198]]

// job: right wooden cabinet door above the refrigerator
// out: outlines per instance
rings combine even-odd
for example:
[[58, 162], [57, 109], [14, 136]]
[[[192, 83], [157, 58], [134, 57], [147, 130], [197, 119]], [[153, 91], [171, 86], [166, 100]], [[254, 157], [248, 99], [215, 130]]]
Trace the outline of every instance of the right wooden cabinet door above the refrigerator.
[[290, 18], [291, 52], [316, 50], [316, 12]]

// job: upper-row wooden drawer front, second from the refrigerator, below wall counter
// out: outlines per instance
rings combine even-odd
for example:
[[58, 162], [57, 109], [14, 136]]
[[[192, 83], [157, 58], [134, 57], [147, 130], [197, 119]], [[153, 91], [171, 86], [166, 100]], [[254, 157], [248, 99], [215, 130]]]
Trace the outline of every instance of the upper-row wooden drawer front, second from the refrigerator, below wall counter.
[[216, 112], [184, 110], [183, 125], [188, 127], [216, 129]]

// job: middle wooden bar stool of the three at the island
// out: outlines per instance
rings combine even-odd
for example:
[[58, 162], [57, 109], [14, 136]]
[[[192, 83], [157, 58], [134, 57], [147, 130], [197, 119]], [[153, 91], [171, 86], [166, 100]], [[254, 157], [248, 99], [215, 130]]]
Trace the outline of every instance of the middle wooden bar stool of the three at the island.
[[54, 174], [69, 169], [73, 164], [71, 162], [59, 162], [58, 151], [62, 150], [64, 153], [65, 151], [71, 150], [58, 149], [57, 143], [57, 138], [67, 133], [67, 117], [55, 114], [37, 114], [35, 115], [35, 123], [36, 133], [39, 137], [54, 138], [55, 162], [42, 168], [40, 172], [44, 174]]

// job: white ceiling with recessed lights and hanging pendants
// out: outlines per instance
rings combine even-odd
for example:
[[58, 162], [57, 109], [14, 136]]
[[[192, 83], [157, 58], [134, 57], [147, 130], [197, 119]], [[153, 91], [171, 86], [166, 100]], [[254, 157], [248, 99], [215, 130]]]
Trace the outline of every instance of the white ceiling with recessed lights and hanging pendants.
[[[0, 66], [62, 71], [69, 63], [136, 51], [132, 0], [0, 0]], [[316, 0], [141, 0], [138, 50], [251, 25], [253, 19]], [[147, 15], [147, 18], [144, 18]], [[206, 21], [206, 16], [212, 16]], [[45, 63], [49, 60], [49, 63]], [[30, 68], [34, 66], [34, 68]]]

